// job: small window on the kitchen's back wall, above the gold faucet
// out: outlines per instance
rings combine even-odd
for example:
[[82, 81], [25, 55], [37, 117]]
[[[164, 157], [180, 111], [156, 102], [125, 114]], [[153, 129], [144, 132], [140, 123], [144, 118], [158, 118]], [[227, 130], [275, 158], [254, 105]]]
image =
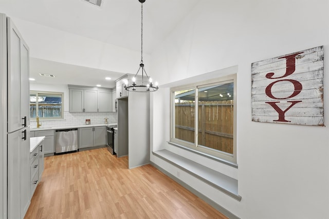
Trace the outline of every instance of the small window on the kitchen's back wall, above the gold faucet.
[[41, 120], [61, 119], [63, 116], [63, 93], [30, 91], [30, 118]]

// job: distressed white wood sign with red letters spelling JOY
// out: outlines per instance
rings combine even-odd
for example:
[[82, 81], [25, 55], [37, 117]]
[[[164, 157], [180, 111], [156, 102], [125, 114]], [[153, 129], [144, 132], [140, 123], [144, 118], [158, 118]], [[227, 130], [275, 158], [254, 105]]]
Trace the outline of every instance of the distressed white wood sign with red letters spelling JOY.
[[252, 121], [323, 122], [323, 46], [251, 64]]

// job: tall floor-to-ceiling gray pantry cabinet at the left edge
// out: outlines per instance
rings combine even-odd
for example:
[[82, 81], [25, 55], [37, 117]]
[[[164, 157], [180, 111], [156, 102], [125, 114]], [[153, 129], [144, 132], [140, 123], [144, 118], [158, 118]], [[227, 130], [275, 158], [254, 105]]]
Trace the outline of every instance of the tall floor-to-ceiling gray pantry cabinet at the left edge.
[[1, 159], [3, 165], [0, 165], [3, 170], [0, 172], [4, 173], [4, 180], [0, 182], [0, 203], [3, 204], [0, 217], [24, 218], [30, 204], [29, 48], [5, 14], [0, 14], [0, 45], [3, 109], [8, 103], [1, 121], [2, 126], [6, 124], [3, 132], [8, 135], [4, 136], [6, 144], [1, 146], [6, 148], [2, 156], [7, 160]]

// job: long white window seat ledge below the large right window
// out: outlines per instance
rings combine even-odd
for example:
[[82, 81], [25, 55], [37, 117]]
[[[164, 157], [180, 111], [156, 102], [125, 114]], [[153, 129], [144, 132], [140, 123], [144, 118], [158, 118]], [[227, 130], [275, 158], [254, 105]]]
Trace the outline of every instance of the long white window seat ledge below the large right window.
[[153, 154], [162, 160], [178, 167], [181, 170], [193, 175], [199, 180], [224, 192], [225, 194], [241, 201], [241, 196], [237, 194], [237, 180], [223, 173], [198, 164], [192, 160], [182, 157], [168, 150], [153, 151]]

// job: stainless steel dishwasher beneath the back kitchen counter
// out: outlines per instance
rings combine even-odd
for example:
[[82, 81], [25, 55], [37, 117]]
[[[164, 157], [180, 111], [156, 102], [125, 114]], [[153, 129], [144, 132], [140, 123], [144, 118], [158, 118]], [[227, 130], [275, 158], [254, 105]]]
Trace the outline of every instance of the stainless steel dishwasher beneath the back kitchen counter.
[[58, 129], [55, 132], [55, 153], [78, 150], [78, 129]]

